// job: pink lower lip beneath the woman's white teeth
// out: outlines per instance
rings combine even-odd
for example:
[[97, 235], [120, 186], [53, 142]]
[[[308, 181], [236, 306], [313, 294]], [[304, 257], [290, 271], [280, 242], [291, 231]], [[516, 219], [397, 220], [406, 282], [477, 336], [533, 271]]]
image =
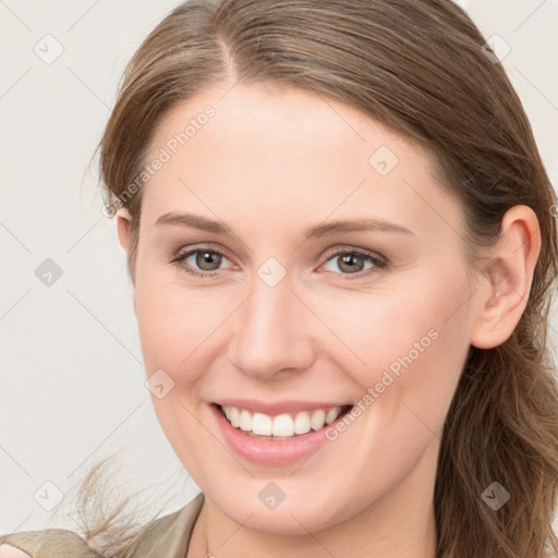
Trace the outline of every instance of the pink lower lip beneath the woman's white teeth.
[[347, 414], [347, 412], [342, 413], [332, 423], [326, 424], [319, 430], [310, 430], [287, 440], [267, 440], [250, 436], [244, 430], [234, 428], [222, 415], [218, 405], [211, 403], [209, 407], [227, 444], [238, 456], [252, 462], [272, 465], [295, 463], [312, 456], [319, 447], [329, 441], [325, 435], [326, 428], [335, 427], [336, 423]]

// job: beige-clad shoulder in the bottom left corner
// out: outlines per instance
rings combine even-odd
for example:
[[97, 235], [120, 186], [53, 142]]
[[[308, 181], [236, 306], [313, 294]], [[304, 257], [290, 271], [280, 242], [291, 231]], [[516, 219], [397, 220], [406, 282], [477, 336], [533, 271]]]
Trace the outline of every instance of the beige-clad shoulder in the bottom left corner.
[[101, 558], [73, 531], [45, 529], [0, 535], [0, 558]]

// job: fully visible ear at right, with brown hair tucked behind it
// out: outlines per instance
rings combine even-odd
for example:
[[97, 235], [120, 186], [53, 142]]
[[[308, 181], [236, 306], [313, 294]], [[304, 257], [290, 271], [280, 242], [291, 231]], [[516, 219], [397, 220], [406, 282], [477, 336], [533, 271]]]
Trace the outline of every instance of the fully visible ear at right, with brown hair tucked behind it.
[[471, 344], [478, 349], [506, 342], [527, 305], [541, 253], [541, 231], [533, 209], [524, 205], [509, 209], [501, 222], [500, 239], [488, 251], [471, 338]]

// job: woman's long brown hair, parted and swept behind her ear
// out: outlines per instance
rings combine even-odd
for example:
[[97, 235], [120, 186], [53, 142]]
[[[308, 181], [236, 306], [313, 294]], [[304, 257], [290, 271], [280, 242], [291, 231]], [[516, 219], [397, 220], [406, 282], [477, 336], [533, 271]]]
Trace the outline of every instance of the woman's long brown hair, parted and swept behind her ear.
[[[342, 101], [426, 146], [462, 203], [475, 254], [498, 239], [508, 209], [531, 207], [543, 245], [529, 304], [505, 343], [470, 348], [447, 415], [436, 557], [548, 558], [558, 553], [558, 388], [546, 347], [557, 198], [521, 101], [485, 43], [449, 0], [186, 2], [131, 60], [99, 144], [100, 170], [109, 215], [125, 206], [132, 216], [132, 282], [143, 190], [130, 196], [130, 185], [154, 130], [177, 102], [231, 77]], [[96, 489], [92, 478], [83, 502]], [[482, 497], [495, 482], [510, 494], [498, 510]], [[125, 556], [130, 537], [112, 520], [85, 534], [104, 539], [106, 556]]]

